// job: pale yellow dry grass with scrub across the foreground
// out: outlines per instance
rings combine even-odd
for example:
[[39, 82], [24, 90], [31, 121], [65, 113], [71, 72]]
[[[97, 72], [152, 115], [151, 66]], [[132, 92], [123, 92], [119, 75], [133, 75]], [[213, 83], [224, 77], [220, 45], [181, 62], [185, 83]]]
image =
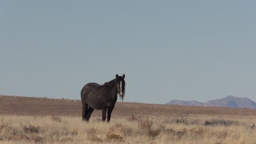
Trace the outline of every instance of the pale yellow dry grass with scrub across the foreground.
[[[255, 118], [0, 116], [0, 143], [256, 143]], [[248, 123], [248, 121], [250, 123]]]

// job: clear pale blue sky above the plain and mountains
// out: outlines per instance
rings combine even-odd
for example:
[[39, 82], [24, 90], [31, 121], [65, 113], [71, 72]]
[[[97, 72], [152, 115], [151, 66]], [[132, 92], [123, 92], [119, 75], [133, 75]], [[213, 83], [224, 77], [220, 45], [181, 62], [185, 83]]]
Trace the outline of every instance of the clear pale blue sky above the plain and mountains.
[[256, 101], [255, 8], [256, 1], [1, 1], [0, 94], [80, 99], [86, 83], [125, 74], [124, 101]]

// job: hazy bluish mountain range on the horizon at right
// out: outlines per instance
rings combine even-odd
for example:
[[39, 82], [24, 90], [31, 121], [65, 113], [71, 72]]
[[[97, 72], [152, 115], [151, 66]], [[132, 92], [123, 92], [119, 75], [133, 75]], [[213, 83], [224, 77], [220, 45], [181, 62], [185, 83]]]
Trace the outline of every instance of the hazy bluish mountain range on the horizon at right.
[[249, 98], [238, 98], [234, 96], [228, 96], [223, 99], [210, 100], [206, 103], [200, 103], [198, 101], [183, 101], [183, 100], [172, 100], [166, 105], [190, 105], [190, 106], [216, 106], [216, 107], [237, 107], [256, 109], [256, 103]]

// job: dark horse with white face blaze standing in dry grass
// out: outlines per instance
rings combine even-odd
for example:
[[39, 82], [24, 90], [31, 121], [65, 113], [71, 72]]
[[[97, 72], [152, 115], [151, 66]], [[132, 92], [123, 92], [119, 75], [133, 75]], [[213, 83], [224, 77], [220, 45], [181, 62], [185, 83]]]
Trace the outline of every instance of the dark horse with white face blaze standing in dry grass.
[[106, 121], [106, 112], [108, 112], [107, 122], [110, 122], [111, 113], [117, 102], [117, 94], [124, 100], [124, 78], [125, 74], [123, 76], [118, 76], [117, 74], [114, 80], [105, 82], [103, 85], [91, 82], [82, 88], [82, 121], [89, 122], [91, 113], [94, 110], [102, 110], [102, 122]]

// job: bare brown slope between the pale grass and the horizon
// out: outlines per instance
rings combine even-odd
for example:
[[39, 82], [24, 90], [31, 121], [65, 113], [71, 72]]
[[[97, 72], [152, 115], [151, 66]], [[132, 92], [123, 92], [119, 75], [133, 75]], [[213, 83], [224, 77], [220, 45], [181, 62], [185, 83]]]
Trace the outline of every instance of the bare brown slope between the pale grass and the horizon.
[[[82, 116], [80, 100], [49, 99], [35, 97], [17, 97], [0, 95], [0, 115], [51, 115], [51, 116]], [[153, 116], [153, 117], [200, 117], [216, 116], [249, 117], [256, 116], [253, 109], [234, 109], [227, 107], [178, 106], [142, 103], [117, 102], [112, 117]], [[95, 110], [92, 117], [101, 118], [101, 110]]]

